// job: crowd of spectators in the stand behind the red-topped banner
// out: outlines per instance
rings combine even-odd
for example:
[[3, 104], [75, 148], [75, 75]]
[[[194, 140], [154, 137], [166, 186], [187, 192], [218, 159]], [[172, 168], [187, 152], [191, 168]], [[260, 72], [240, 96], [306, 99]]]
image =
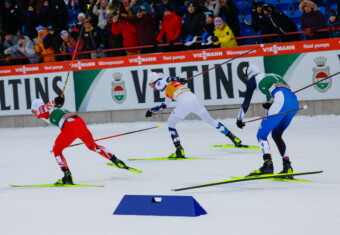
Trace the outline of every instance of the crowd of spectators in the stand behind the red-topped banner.
[[[327, 21], [317, 4], [299, 4], [306, 39], [339, 37], [337, 9]], [[252, 2], [251, 20], [239, 16], [233, 0], [0, 0], [0, 65], [70, 60], [78, 40], [76, 59], [235, 47], [246, 43], [241, 23], [254, 34], [280, 35], [263, 43], [304, 36], [265, 1]]]

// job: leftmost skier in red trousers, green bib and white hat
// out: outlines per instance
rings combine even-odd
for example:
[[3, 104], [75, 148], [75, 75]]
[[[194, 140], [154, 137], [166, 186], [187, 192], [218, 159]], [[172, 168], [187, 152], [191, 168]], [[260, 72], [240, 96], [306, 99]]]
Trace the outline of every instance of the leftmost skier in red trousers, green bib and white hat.
[[110, 153], [105, 147], [96, 144], [93, 140], [92, 133], [88, 130], [84, 120], [76, 113], [67, 109], [62, 109], [65, 97], [58, 96], [48, 103], [41, 99], [35, 99], [32, 102], [31, 112], [37, 118], [60, 128], [60, 134], [53, 145], [54, 157], [64, 173], [64, 176], [55, 184], [73, 184], [73, 177], [63, 155], [63, 150], [67, 148], [74, 140], [79, 138], [86, 147], [100, 154], [102, 157], [110, 160], [119, 168], [127, 166], [119, 160], [113, 153]]

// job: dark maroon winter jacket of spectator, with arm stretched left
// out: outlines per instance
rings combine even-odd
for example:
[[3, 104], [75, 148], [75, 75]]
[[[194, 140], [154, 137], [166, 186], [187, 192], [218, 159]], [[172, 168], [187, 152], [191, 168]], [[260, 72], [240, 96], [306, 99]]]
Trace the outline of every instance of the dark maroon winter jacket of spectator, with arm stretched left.
[[140, 46], [153, 45], [155, 43], [155, 25], [151, 15], [143, 14], [142, 18], [137, 17], [120, 17], [121, 21], [134, 24], [136, 26], [138, 44]]

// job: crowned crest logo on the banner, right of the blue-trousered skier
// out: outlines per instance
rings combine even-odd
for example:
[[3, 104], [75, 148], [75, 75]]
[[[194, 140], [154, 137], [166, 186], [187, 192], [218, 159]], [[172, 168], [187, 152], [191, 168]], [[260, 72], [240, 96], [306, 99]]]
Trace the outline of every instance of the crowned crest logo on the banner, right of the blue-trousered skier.
[[[326, 77], [329, 77], [330, 75], [330, 68], [329, 66], [326, 66], [327, 58], [323, 56], [318, 56], [314, 59], [314, 62], [316, 64], [316, 67], [313, 68], [313, 83], [318, 82]], [[332, 79], [325, 79], [322, 82], [319, 82], [317, 84], [314, 84], [314, 87], [319, 92], [326, 92], [331, 88], [332, 85]]]

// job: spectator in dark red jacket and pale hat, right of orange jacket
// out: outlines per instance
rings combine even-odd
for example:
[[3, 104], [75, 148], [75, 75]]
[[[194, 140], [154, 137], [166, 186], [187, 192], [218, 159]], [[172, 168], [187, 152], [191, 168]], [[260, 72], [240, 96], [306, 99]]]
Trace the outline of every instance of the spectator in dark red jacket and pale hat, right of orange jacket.
[[[69, 35], [69, 33], [66, 30], [61, 31], [60, 38], [62, 39], [62, 44], [60, 47], [61, 53], [74, 53], [74, 50], [77, 46], [77, 41]], [[79, 44], [77, 48], [76, 55], [74, 57], [75, 60], [82, 60], [82, 59], [88, 59], [87, 54], [79, 54], [78, 52], [84, 51], [86, 49], [86, 46], [84, 44], [83, 39], [79, 39]], [[72, 56], [66, 56], [68, 60], [72, 60]]]

